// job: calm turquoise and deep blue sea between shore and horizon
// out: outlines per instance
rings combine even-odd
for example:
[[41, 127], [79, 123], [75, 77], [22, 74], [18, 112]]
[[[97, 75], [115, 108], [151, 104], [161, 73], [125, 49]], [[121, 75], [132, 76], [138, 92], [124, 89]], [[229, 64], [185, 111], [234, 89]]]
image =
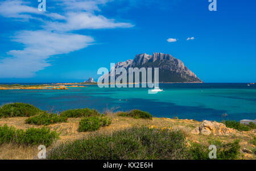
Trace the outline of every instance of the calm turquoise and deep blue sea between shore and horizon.
[[158, 94], [148, 94], [146, 88], [86, 86], [69, 90], [0, 90], [0, 105], [23, 102], [53, 111], [84, 107], [99, 111], [141, 109], [156, 117], [196, 120], [256, 119], [255, 85], [160, 84], [164, 91]]

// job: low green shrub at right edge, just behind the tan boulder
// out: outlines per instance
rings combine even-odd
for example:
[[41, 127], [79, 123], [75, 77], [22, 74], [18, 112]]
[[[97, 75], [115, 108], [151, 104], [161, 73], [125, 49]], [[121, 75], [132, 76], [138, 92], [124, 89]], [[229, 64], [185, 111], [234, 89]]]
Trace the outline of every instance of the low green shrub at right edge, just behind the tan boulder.
[[236, 120], [223, 120], [222, 123], [226, 125], [228, 128], [234, 128], [238, 131], [250, 131], [251, 129], [255, 129], [256, 125], [254, 123], [250, 123], [248, 125], [242, 124], [240, 122], [236, 122]]

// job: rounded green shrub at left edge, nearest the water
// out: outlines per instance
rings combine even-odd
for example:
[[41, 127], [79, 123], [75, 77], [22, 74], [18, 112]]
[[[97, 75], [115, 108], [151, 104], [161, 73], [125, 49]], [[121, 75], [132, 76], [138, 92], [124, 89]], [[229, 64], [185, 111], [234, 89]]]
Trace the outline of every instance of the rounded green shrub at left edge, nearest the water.
[[0, 108], [0, 118], [16, 117], [16, 116], [34, 116], [42, 110], [37, 107], [25, 103], [10, 103]]

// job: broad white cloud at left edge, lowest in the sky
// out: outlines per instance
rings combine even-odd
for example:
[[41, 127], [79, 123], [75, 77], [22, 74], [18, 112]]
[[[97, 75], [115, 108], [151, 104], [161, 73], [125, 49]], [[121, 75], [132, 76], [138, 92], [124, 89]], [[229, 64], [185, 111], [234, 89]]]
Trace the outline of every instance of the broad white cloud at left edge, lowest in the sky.
[[22, 51], [7, 52], [11, 57], [0, 60], [1, 78], [33, 77], [35, 72], [50, 66], [52, 55], [69, 53], [92, 44], [90, 36], [53, 33], [48, 31], [21, 31], [13, 39], [24, 44]]

